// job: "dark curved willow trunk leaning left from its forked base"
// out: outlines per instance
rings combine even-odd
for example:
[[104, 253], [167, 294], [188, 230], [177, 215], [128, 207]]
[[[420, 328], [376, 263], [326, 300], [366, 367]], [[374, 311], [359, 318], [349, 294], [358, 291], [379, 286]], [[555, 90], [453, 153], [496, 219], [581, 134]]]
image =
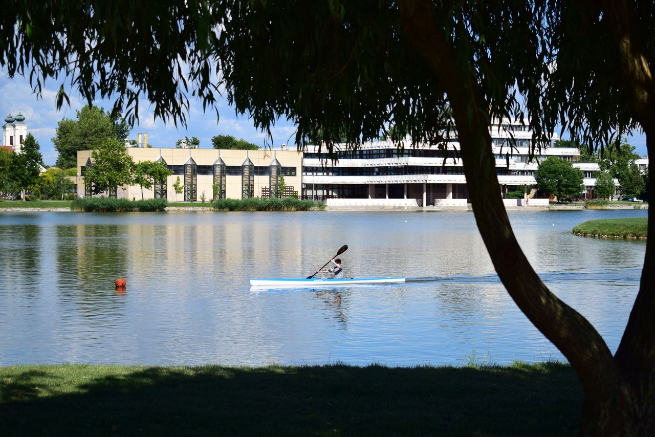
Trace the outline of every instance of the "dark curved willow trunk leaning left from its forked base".
[[[436, 27], [432, 5], [427, 0], [404, 0], [399, 6], [405, 35], [447, 92], [477, 227], [496, 273], [519, 309], [571, 362], [582, 383], [582, 434], [649, 434], [655, 421], [653, 243], [646, 248], [641, 290], [615, 360], [593, 326], [548, 290], [519, 247], [499, 195], [489, 105], [474, 76], [455, 67], [466, 63], [458, 62]], [[655, 123], [655, 117], [645, 122]], [[648, 138], [650, 151], [655, 136]], [[655, 226], [650, 214], [648, 224]]]

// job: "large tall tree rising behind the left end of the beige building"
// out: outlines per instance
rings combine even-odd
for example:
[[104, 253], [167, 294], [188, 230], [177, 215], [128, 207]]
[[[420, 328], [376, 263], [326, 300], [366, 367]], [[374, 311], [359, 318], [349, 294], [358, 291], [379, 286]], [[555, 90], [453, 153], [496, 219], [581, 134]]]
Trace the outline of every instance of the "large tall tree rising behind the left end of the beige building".
[[77, 120], [63, 119], [58, 123], [52, 138], [54, 149], [59, 153], [56, 166], [77, 166], [77, 151], [97, 149], [107, 138], [124, 140], [129, 134], [128, 124], [113, 120], [102, 107], [85, 105], [77, 111]]

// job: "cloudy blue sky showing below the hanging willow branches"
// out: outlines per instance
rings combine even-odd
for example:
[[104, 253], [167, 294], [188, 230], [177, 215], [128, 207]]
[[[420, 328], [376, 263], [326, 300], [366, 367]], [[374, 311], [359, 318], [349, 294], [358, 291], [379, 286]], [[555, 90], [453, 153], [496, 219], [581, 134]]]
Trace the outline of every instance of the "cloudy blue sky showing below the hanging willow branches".
[[[57, 111], [55, 98], [60, 85], [56, 81], [48, 81], [42, 98], [37, 99], [27, 79], [23, 77], [9, 79], [4, 72], [0, 76], [0, 115], [3, 123], [9, 111], [12, 115], [16, 115], [20, 109], [25, 116], [25, 123], [28, 124], [28, 132], [33, 134], [41, 145], [43, 162], [48, 165], [53, 165], [57, 159], [52, 138], [55, 136], [58, 122], [64, 118], [75, 119], [76, 111], [86, 104], [86, 100], [81, 100], [77, 94], [69, 94], [71, 105]], [[69, 90], [68, 87], [66, 89]], [[105, 109], [110, 109], [112, 106], [109, 100], [98, 100], [94, 104]], [[192, 100], [186, 129], [181, 126], [176, 127], [173, 123], [164, 123], [160, 119], [154, 120], [152, 112], [144, 109], [149, 107], [146, 101], [140, 102], [139, 107], [139, 124], [132, 128], [128, 138], [136, 140], [138, 133], [147, 132], [148, 142], [153, 147], [175, 147], [179, 138], [196, 136], [200, 140], [201, 148], [211, 148], [212, 136], [218, 134], [232, 135], [260, 146], [264, 145], [265, 134], [255, 129], [248, 117], [236, 117], [234, 109], [225, 101], [219, 102], [221, 118], [219, 123], [216, 123], [214, 112], [203, 113], [202, 104]], [[294, 134], [293, 124], [285, 120], [278, 121], [272, 129], [274, 145], [279, 146], [282, 143], [293, 145]], [[568, 138], [567, 134], [564, 134], [563, 138]], [[646, 138], [643, 134], [629, 138], [628, 142], [636, 147], [640, 155], [647, 154]]]

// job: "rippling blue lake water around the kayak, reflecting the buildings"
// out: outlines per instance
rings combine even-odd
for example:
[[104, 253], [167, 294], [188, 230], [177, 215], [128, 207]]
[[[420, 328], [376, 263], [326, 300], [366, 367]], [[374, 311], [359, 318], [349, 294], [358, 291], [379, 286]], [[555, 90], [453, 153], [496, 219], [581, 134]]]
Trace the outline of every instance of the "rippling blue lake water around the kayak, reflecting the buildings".
[[[647, 211], [509, 214], [544, 282], [616, 351], [646, 244], [571, 228]], [[250, 288], [309, 276], [343, 244], [346, 277], [407, 282]], [[500, 284], [471, 212], [3, 213], [0, 265], [2, 366], [564, 359]]]

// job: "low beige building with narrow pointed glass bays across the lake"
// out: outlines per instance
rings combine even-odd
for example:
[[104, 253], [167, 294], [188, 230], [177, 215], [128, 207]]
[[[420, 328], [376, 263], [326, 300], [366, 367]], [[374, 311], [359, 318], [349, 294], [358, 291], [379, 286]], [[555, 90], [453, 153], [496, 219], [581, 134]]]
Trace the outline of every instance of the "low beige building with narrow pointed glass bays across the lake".
[[[143, 189], [143, 199], [165, 198], [171, 202], [199, 201], [202, 195], [214, 199], [214, 185], [217, 198], [244, 199], [246, 197], [271, 197], [278, 193], [280, 175], [284, 175], [285, 196], [294, 191], [299, 195], [302, 189], [302, 153], [288, 149], [220, 150], [220, 149], [177, 149], [128, 147], [126, 153], [141, 161], [162, 161], [173, 175], [165, 184], [155, 184], [152, 189]], [[77, 193], [90, 195], [84, 181], [87, 166], [92, 166], [91, 151], [77, 152]], [[183, 191], [177, 194], [173, 187], [180, 181]], [[117, 187], [119, 199], [141, 199], [141, 187], [130, 185]], [[108, 195], [109, 193], [103, 193]]]

